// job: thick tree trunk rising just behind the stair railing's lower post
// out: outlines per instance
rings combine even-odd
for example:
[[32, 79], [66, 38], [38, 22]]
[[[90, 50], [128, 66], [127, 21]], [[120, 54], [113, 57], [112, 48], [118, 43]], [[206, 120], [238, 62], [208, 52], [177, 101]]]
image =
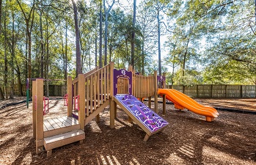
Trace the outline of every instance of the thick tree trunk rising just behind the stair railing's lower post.
[[73, 8], [74, 8], [74, 21], [75, 21], [75, 30], [76, 30], [76, 77], [78, 74], [82, 73], [81, 68], [81, 51], [80, 51], [80, 36], [79, 36], [79, 28], [78, 28], [78, 12], [76, 7], [76, 2], [72, 0]]

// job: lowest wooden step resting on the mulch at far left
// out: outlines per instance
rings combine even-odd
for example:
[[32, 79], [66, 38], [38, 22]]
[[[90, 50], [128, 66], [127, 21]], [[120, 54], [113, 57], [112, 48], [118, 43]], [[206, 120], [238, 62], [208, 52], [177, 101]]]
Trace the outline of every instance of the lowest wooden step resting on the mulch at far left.
[[66, 133], [57, 134], [44, 138], [44, 147], [47, 151], [47, 156], [52, 154], [52, 149], [61, 147], [73, 142], [82, 142], [85, 139], [85, 133], [82, 130], [73, 130]]

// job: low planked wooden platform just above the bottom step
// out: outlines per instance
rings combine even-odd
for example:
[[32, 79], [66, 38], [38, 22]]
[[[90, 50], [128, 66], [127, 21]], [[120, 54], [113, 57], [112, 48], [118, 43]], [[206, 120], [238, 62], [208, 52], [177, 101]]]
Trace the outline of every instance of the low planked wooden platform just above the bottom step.
[[74, 117], [54, 117], [43, 121], [44, 137], [78, 130], [80, 125]]

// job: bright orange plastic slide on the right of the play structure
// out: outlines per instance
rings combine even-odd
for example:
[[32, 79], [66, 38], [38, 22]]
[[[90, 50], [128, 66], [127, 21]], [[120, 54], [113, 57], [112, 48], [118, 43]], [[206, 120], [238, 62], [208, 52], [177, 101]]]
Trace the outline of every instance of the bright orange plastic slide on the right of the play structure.
[[208, 122], [213, 121], [214, 118], [219, 116], [218, 111], [213, 107], [202, 106], [200, 103], [197, 103], [197, 101], [178, 90], [158, 89], [158, 95], [166, 95], [166, 98], [175, 104], [176, 109], [188, 109], [196, 114], [205, 116]]

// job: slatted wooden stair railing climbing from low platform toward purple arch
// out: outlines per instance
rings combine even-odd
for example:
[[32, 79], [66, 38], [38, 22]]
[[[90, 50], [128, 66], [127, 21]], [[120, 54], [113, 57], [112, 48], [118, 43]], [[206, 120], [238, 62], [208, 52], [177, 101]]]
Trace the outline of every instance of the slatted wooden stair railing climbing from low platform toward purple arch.
[[111, 88], [110, 70], [110, 65], [106, 65], [94, 72], [78, 75], [78, 78], [74, 79], [70, 85], [67, 81], [67, 88], [71, 88], [72, 84], [73, 96], [77, 96], [76, 98], [79, 99], [79, 110], [73, 110], [73, 107], [70, 107], [68, 114], [76, 118], [79, 123], [87, 125], [95, 117], [96, 121], [98, 121], [100, 112], [106, 106], [109, 106]]

